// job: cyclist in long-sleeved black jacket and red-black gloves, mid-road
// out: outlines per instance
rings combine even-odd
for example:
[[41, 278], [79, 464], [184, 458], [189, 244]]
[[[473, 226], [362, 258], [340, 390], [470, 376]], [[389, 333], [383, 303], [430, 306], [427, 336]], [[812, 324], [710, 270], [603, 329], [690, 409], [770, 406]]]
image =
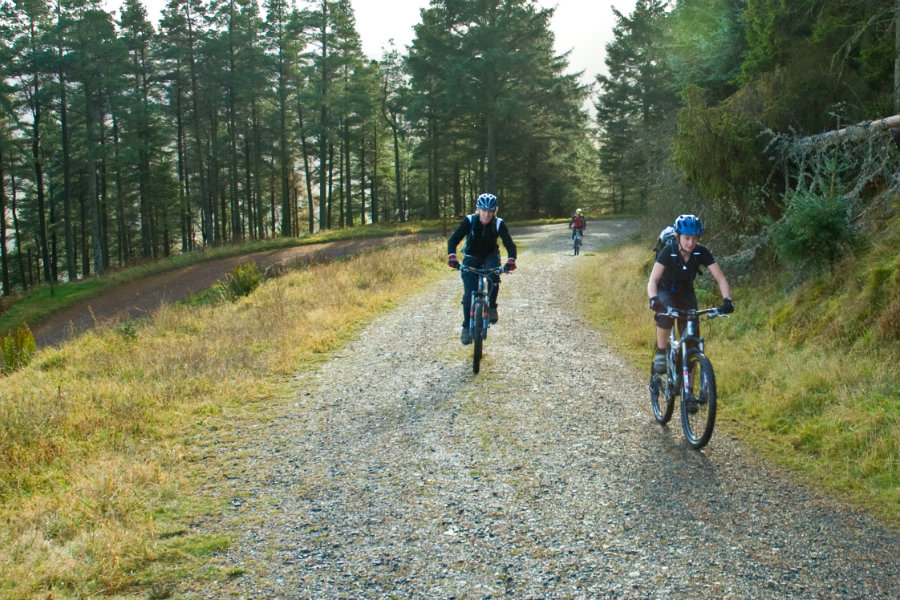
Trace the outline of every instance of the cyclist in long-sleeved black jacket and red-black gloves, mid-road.
[[[500, 246], [497, 239], [503, 241], [506, 248], [507, 260], [504, 269], [507, 272], [516, 268], [516, 245], [509, 235], [509, 229], [503, 219], [497, 214], [497, 196], [493, 194], [481, 194], [475, 202], [475, 213], [466, 216], [450, 239], [447, 240], [447, 264], [458, 269], [460, 264], [456, 259], [456, 247], [465, 238], [463, 246], [463, 264], [472, 268], [494, 268], [500, 266]], [[469, 334], [469, 306], [472, 301], [472, 292], [478, 287], [478, 276], [474, 273], [462, 273], [463, 280], [463, 325], [459, 341], [463, 344], [471, 344], [472, 336]], [[494, 287], [491, 290], [491, 298], [488, 306], [488, 319], [496, 323], [497, 316], [497, 292], [500, 290], [500, 276], [493, 276]]]

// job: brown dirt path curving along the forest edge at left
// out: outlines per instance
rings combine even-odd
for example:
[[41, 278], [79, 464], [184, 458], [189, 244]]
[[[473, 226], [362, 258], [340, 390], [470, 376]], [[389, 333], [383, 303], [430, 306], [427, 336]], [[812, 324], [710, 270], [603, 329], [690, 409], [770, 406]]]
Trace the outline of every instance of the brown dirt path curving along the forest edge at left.
[[397, 236], [388, 238], [387, 241], [385, 238], [372, 238], [297, 246], [210, 260], [160, 273], [124, 283], [101, 296], [79, 301], [50, 316], [32, 327], [35, 343], [39, 348], [58, 346], [73, 335], [98, 324], [146, 316], [163, 304], [189, 298], [210, 288], [238, 263], [255, 261], [260, 270], [278, 266], [291, 267], [364, 252], [385, 243], [406, 243], [415, 239], [421, 239], [421, 236]]

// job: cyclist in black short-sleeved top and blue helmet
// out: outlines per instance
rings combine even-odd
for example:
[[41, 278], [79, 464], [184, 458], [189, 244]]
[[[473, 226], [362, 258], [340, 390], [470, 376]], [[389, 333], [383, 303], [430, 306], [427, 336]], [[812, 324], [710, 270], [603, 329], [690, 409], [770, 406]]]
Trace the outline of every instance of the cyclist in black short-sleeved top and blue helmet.
[[[656, 314], [656, 355], [653, 358], [653, 370], [666, 372], [666, 344], [669, 331], [673, 326], [672, 317], [663, 316], [668, 307], [680, 309], [697, 308], [697, 295], [694, 293], [694, 279], [701, 266], [709, 270], [719, 285], [722, 294], [722, 313], [734, 312], [731, 301], [731, 286], [722, 273], [722, 268], [705, 246], [700, 245], [703, 234], [703, 222], [694, 215], [681, 215], [675, 219], [675, 243], [666, 244], [656, 255], [656, 262], [647, 282], [647, 295], [650, 297], [650, 308]], [[684, 327], [679, 322], [678, 327]]]

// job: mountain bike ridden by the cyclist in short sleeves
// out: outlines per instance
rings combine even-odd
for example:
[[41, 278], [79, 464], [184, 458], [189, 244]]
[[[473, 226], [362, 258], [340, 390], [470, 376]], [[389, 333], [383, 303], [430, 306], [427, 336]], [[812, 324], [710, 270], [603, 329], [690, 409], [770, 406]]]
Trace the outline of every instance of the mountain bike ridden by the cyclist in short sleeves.
[[717, 308], [679, 310], [669, 308], [663, 313], [686, 320], [681, 336], [675, 328], [669, 332], [666, 348], [666, 372], [650, 375], [650, 404], [657, 422], [665, 425], [672, 418], [675, 397], [681, 395], [681, 428], [688, 444], [700, 449], [712, 437], [716, 423], [716, 376], [712, 363], [704, 354], [700, 337], [700, 317], [727, 317]]

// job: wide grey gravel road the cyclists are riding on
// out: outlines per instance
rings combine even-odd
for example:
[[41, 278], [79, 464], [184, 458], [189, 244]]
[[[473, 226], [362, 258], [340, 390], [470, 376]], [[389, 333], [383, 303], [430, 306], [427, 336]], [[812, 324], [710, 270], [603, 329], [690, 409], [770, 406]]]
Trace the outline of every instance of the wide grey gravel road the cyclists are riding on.
[[567, 231], [514, 231], [479, 375], [448, 273], [218, 448], [232, 511], [200, 527], [236, 536], [230, 575], [179, 597], [900, 598], [900, 532], [655, 423], [643, 370], [573, 312]]

